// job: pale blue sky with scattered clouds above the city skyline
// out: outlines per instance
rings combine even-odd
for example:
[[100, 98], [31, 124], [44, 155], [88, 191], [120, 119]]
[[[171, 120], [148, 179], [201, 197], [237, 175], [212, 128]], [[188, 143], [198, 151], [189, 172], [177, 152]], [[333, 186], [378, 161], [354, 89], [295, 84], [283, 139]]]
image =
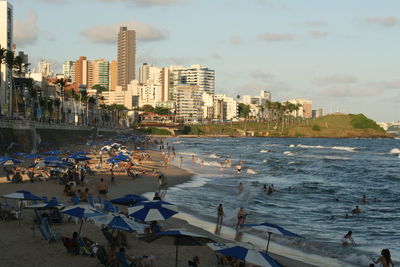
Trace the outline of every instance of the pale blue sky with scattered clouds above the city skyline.
[[128, 26], [137, 67], [201, 64], [215, 70], [217, 94], [269, 90], [272, 101], [305, 98], [325, 114], [400, 120], [398, 0], [9, 2], [17, 50], [34, 66], [113, 60], [119, 26]]

